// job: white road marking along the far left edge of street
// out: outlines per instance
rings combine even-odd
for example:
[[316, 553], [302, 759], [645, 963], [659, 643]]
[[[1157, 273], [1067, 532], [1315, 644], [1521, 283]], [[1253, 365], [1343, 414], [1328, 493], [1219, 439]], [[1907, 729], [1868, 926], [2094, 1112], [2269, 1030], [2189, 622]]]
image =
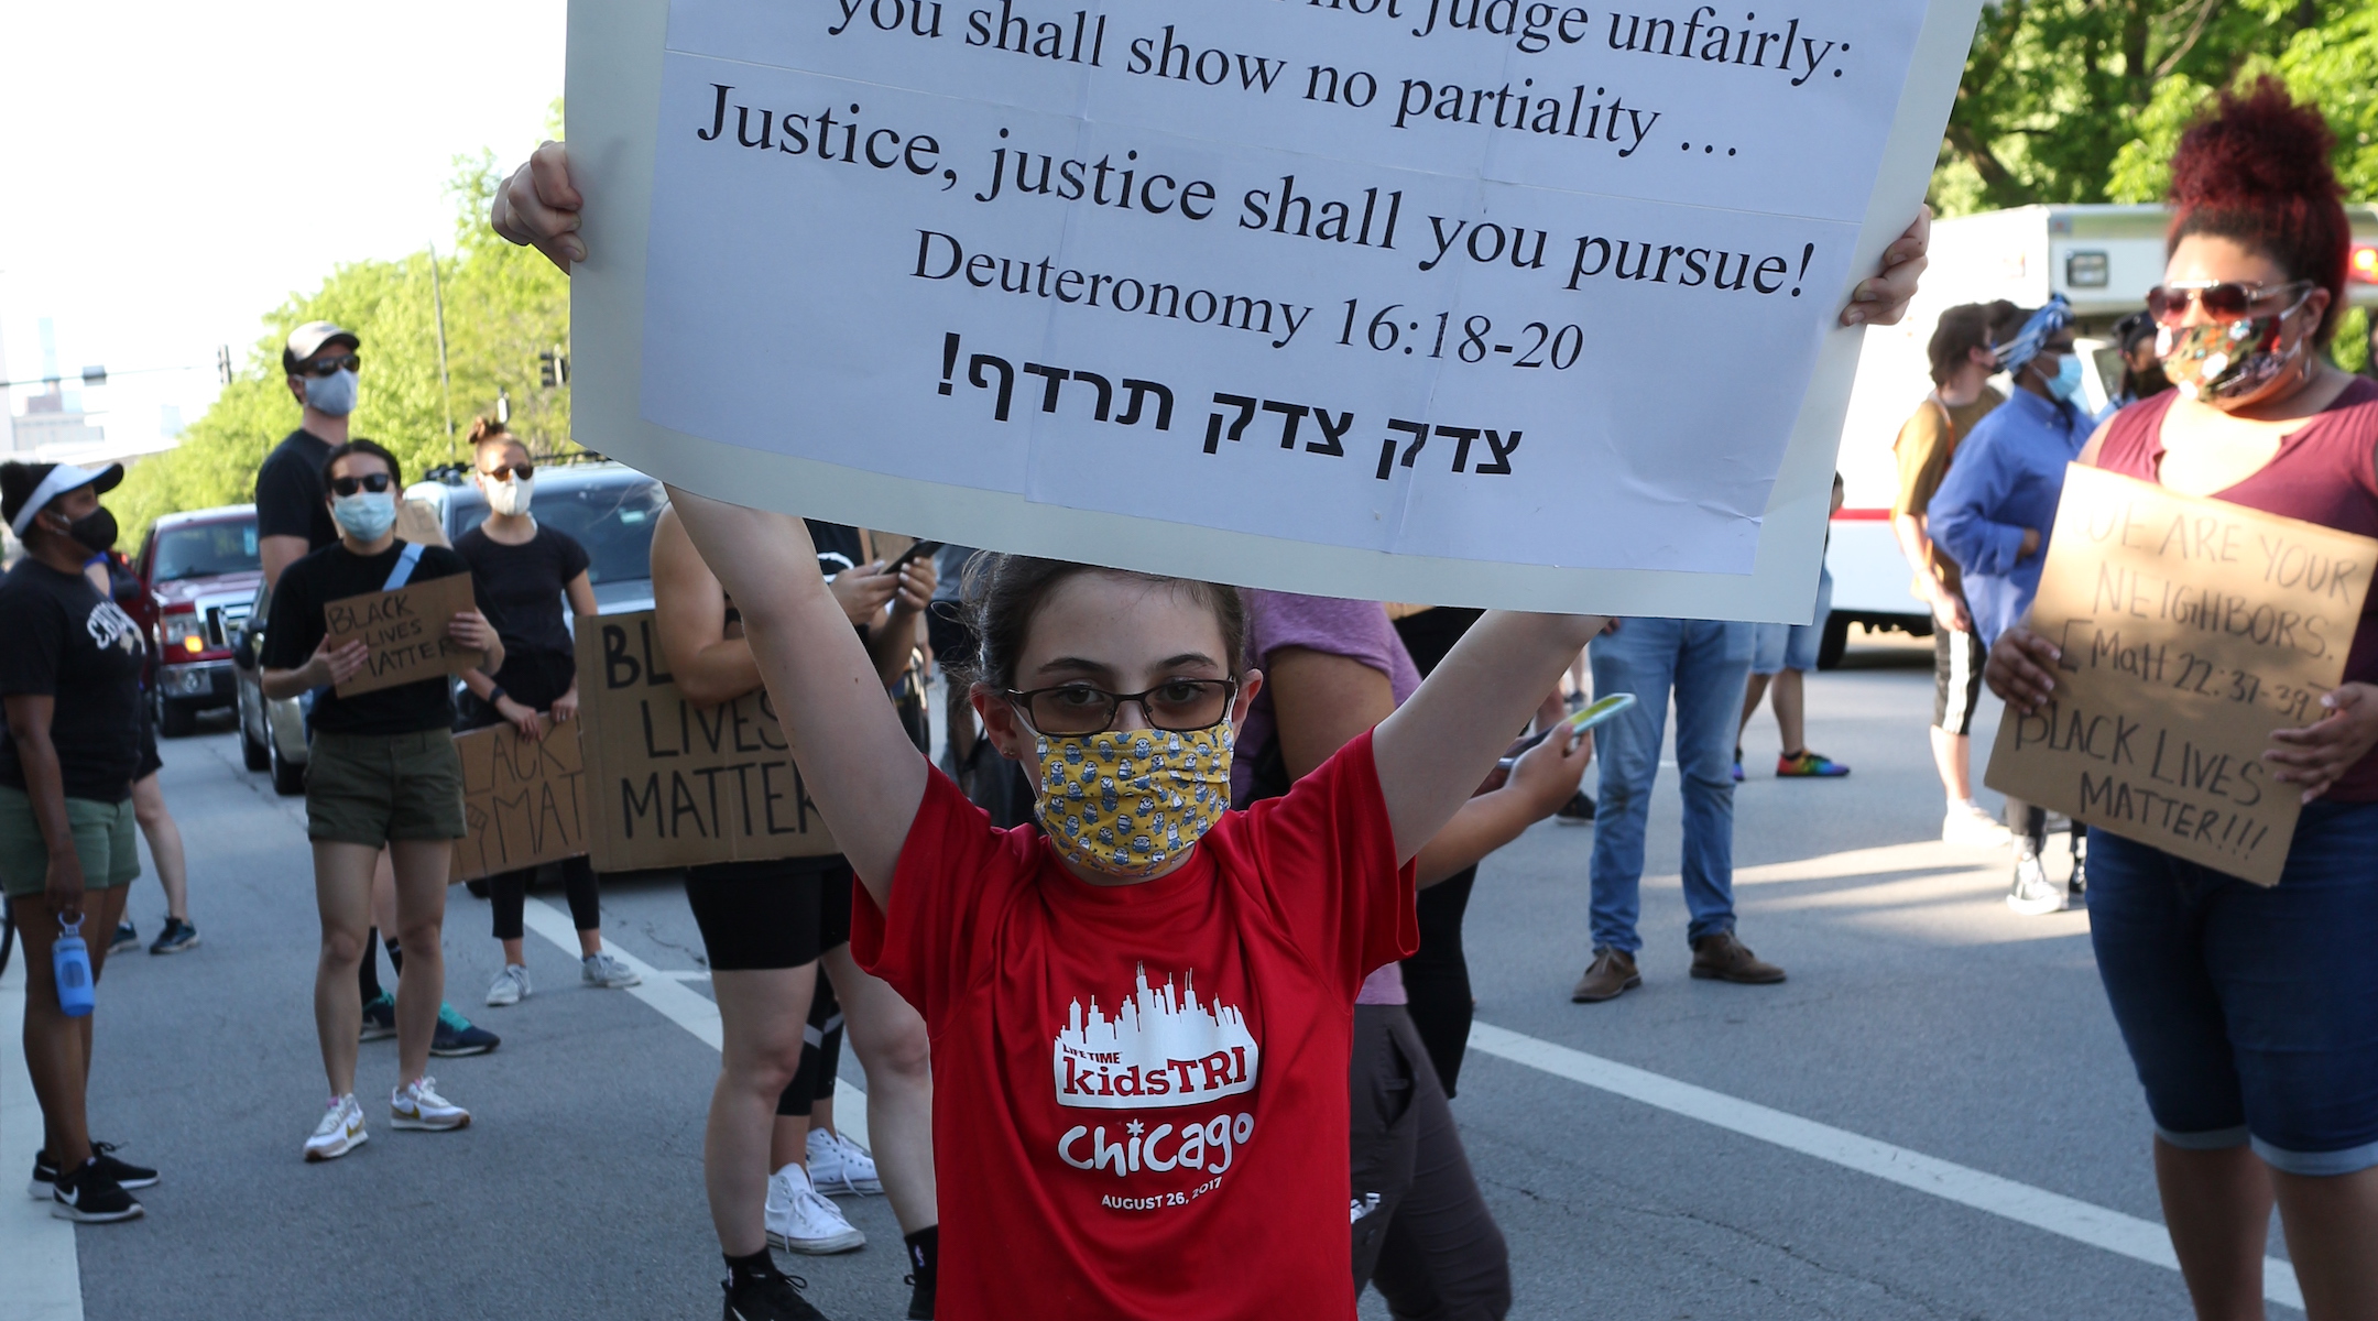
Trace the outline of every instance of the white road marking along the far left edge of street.
[[[24, 1072], [24, 946], [0, 974], [0, 1316], [7, 1321], [83, 1321], [83, 1269], [74, 1221], [50, 1214], [17, 1188], [40, 1155], [40, 1102]], [[50, 969], [43, 969], [45, 974]]]

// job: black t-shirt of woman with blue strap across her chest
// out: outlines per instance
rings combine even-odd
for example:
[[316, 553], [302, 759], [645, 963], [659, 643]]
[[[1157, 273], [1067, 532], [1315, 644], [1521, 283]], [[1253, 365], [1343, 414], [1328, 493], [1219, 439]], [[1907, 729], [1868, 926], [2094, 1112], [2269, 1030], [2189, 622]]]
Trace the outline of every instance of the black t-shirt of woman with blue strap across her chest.
[[[314, 658], [314, 649], [328, 634], [323, 606], [347, 596], [388, 589], [388, 575], [397, 568], [404, 539], [390, 539], [376, 556], [359, 556], [345, 544], [328, 544], [281, 573], [273, 587], [271, 618], [264, 625], [262, 665], [266, 670], [297, 670]], [[471, 573], [464, 558], [445, 546], [421, 546], [421, 563], [407, 582], [428, 582]], [[502, 611], [487, 601], [487, 592], [473, 584], [478, 611], [487, 615], [497, 634], [504, 632]], [[319, 689], [314, 696], [314, 727], [331, 734], [419, 734], [423, 729], [454, 727], [454, 694], [447, 675], [397, 684], [340, 699], [335, 689]]]

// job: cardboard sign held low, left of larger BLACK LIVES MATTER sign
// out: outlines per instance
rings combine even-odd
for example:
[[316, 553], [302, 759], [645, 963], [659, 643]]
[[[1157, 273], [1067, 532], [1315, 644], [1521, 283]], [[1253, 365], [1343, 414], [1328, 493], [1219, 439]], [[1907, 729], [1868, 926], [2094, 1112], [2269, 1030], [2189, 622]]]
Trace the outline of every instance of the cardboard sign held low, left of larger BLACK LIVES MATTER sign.
[[454, 734], [461, 756], [461, 820], [471, 834], [454, 846], [457, 881], [559, 862], [587, 851], [585, 767], [578, 727], [540, 715], [545, 739], [511, 725]]

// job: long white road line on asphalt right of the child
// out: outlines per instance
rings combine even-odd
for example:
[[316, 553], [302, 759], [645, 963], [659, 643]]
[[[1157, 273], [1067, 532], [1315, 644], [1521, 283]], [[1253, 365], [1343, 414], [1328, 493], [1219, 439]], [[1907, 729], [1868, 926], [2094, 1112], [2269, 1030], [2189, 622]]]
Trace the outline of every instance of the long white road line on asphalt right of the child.
[[[1522, 1036], [1493, 1024], [1470, 1024], [1470, 1048], [1515, 1064], [1527, 1064], [1529, 1069], [1541, 1069], [1555, 1079], [1569, 1079], [1572, 1083], [1624, 1095], [1627, 1100], [1638, 1100], [1643, 1105], [1667, 1110], [1669, 1114], [1700, 1119], [1703, 1124], [1726, 1129], [1729, 1133], [1741, 1133], [1745, 1138], [1774, 1143], [1843, 1169], [1871, 1174], [1874, 1178], [1914, 1188], [1917, 1193], [1931, 1193], [1933, 1197], [1974, 1207], [1976, 1212], [1988, 1212], [2059, 1238], [2088, 1243], [2090, 1247], [2102, 1247], [2107, 1252], [2131, 1257], [2133, 1262], [2164, 1266], [2166, 1271], [2181, 1269], [2178, 1257], [2171, 1254], [2171, 1235], [2154, 1221], [2143, 1221], [2076, 1197], [2064, 1197], [2062, 1193], [2050, 1193], [2045, 1188], [1950, 1164], [1924, 1152], [1879, 1143], [1845, 1129], [1817, 1124], [1814, 1119], [1800, 1119], [1798, 1114], [1786, 1114], [1767, 1105], [1681, 1083], [1648, 1069], [1619, 1064], [1617, 1060], [1603, 1060], [1600, 1055], [1586, 1055], [1584, 1050]], [[2295, 1266], [2281, 1262], [2278, 1257], [2264, 1257], [2261, 1262], [2261, 1295], [2283, 1307], [2304, 1307], [2304, 1290], [2295, 1281]]]

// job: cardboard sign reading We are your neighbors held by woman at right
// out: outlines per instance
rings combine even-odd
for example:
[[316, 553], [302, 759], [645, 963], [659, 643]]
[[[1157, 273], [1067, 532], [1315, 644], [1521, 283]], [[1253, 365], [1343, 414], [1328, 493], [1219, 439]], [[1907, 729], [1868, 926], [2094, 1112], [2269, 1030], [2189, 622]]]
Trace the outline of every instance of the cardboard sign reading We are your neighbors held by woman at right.
[[2071, 466], [2031, 606], [2055, 699], [1998, 725], [1986, 784], [2254, 884], [2302, 794], [2271, 729], [2321, 720], [2378, 542]]

